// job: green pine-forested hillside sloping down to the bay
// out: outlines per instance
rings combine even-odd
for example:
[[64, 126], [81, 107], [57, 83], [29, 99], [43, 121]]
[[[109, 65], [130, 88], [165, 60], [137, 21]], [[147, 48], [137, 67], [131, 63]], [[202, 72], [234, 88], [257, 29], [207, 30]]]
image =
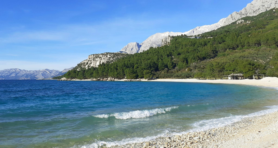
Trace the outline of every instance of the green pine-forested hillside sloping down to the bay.
[[167, 46], [128, 55], [98, 68], [71, 70], [66, 78], [221, 78], [231, 73], [278, 76], [278, 9], [242, 18], [201, 39], [173, 37]]

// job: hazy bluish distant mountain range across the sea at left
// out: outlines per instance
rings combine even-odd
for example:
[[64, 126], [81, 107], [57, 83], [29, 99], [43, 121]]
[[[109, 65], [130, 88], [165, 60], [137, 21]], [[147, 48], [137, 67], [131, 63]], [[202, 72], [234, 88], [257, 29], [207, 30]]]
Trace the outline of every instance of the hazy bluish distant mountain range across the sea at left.
[[0, 71], [0, 80], [35, 80], [48, 79], [54, 76], [61, 76], [74, 67], [59, 70], [21, 70], [18, 68], [5, 69]]

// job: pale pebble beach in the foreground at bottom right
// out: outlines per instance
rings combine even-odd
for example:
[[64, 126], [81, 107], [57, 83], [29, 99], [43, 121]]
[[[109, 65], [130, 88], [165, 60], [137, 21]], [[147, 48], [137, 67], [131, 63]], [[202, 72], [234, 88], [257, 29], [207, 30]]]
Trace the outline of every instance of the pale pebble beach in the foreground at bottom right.
[[224, 127], [113, 148], [277, 148], [278, 112], [244, 118]]

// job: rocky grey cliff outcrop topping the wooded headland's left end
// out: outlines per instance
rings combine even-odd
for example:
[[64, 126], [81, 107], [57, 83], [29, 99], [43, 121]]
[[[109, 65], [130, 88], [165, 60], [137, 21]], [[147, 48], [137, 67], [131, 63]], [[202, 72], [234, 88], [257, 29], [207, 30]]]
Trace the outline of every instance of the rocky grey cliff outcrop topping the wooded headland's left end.
[[89, 55], [88, 59], [77, 64], [77, 66], [74, 69], [80, 70], [81, 68], [88, 69], [91, 67], [98, 67], [99, 64], [112, 63], [112, 62], [114, 62], [120, 58], [123, 58], [127, 55], [128, 54], [125, 54], [125, 53], [112, 53], [112, 52]]

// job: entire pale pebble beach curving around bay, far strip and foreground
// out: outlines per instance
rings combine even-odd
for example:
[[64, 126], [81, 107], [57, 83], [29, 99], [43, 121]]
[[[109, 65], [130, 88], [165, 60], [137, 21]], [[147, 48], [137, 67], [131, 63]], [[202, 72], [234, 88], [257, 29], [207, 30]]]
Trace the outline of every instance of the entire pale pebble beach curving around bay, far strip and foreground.
[[[85, 80], [86, 81], [86, 80]], [[88, 81], [88, 80], [87, 80]], [[90, 80], [89, 80], [90, 81]], [[116, 81], [125, 81], [116, 80]], [[138, 81], [131, 80], [131, 81]], [[197, 80], [197, 79], [154, 79], [148, 82], [191, 82], [211, 84], [239, 84], [278, 88], [277, 77], [265, 77], [260, 80]], [[277, 107], [278, 108], [278, 107]], [[110, 146], [111, 148], [261, 148], [278, 147], [278, 111], [243, 117], [239, 121], [225, 126], [200, 132], [158, 137], [150, 141]], [[106, 146], [101, 146], [106, 147]]]

